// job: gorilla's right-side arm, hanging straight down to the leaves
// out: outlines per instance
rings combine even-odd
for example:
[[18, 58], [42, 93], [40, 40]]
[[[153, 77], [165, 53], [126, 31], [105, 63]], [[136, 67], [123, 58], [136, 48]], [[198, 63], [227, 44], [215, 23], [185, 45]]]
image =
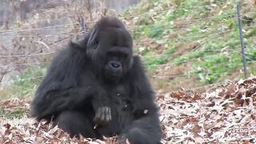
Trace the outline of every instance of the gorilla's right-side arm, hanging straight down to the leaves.
[[134, 122], [122, 131], [122, 141], [128, 138], [130, 143], [158, 143], [162, 131], [158, 118], [158, 108], [154, 104], [154, 91], [143, 70], [140, 58], [134, 57], [130, 74], [131, 87], [134, 91]]

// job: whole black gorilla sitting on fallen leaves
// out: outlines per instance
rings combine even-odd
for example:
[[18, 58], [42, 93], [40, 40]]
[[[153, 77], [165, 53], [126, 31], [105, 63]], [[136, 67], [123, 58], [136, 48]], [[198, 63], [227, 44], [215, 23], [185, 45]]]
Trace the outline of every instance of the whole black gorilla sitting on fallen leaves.
[[154, 91], [132, 47], [122, 22], [102, 18], [53, 59], [31, 103], [32, 116], [53, 119], [72, 136], [160, 142]]

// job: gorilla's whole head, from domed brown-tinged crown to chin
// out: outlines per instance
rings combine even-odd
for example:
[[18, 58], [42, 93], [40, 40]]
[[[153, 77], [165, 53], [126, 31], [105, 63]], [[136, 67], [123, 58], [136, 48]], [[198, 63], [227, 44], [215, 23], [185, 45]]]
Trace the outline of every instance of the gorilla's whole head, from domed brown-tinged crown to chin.
[[110, 82], [118, 82], [133, 63], [133, 41], [117, 18], [102, 18], [89, 32], [87, 55], [96, 73]]

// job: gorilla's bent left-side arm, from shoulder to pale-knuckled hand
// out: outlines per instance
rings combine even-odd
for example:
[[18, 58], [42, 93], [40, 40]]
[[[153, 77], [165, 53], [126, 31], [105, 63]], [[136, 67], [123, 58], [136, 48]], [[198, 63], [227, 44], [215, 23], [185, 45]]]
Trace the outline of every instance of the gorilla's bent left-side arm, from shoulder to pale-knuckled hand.
[[106, 107], [104, 90], [90, 78], [86, 79], [86, 85], [78, 86], [78, 76], [85, 65], [86, 50], [74, 43], [54, 57], [31, 103], [32, 116], [50, 120], [54, 114], [75, 109], [90, 100], [96, 113], [94, 121], [108, 122], [110, 108]]

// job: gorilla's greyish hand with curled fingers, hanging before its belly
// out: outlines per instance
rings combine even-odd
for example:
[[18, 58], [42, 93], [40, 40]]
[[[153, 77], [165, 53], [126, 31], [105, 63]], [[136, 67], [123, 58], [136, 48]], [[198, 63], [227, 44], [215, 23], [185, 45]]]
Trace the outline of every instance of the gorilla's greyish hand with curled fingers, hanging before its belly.
[[101, 106], [95, 111], [94, 122], [96, 125], [106, 125], [111, 120], [111, 110], [109, 106]]

